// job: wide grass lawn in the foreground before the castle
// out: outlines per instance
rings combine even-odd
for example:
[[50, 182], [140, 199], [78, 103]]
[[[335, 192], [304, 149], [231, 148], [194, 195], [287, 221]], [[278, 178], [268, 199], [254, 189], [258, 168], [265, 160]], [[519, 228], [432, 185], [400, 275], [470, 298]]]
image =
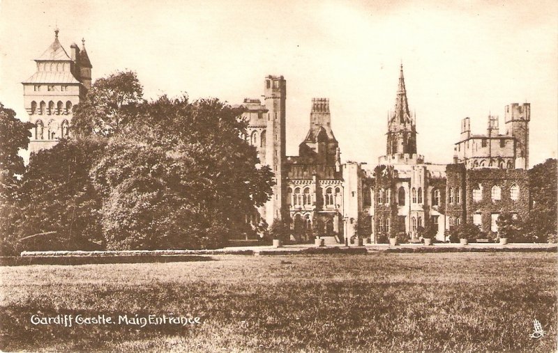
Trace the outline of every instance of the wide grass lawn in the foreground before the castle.
[[[0, 349], [555, 352], [557, 259], [377, 253], [0, 267]], [[31, 324], [59, 313], [174, 313], [202, 324]], [[529, 337], [535, 319], [543, 338]]]

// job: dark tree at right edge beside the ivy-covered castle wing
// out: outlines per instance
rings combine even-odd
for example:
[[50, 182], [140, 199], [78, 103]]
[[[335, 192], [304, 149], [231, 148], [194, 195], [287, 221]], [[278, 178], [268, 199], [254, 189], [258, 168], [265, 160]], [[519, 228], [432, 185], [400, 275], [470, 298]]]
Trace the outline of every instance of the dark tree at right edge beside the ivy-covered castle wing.
[[531, 210], [525, 230], [538, 242], [557, 242], [557, 160], [547, 159], [529, 170]]

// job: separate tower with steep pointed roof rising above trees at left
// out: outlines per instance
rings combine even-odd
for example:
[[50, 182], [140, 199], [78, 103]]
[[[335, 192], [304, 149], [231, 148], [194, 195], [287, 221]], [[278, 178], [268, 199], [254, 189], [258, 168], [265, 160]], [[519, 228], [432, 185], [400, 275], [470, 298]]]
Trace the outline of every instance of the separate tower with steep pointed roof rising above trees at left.
[[85, 50], [75, 43], [70, 55], [62, 47], [54, 30], [54, 42], [35, 59], [36, 72], [22, 82], [24, 105], [31, 130], [29, 151], [51, 148], [70, 134], [73, 110], [91, 88], [91, 61]]

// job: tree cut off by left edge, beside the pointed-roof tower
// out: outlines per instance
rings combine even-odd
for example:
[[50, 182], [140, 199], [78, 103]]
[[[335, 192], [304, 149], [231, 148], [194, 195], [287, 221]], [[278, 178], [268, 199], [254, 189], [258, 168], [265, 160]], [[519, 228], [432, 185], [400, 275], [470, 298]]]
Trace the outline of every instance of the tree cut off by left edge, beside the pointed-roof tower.
[[18, 153], [29, 146], [29, 130], [34, 126], [15, 118], [15, 111], [0, 102], [0, 203], [13, 199], [16, 175], [25, 171], [23, 158]]

